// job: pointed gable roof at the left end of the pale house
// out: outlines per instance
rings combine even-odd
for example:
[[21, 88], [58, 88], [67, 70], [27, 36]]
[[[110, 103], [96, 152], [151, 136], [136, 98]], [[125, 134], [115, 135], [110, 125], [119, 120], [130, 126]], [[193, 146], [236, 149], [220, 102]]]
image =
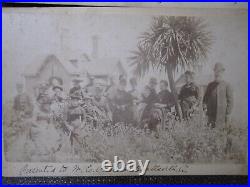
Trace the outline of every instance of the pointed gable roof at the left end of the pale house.
[[44, 67], [45, 64], [47, 64], [48, 62], [57, 62], [60, 63], [65, 70], [69, 73], [69, 74], [79, 74], [80, 71], [77, 67], [73, 66], [71, 63], [67, 62], [67, 61], [61, 61], [59, 60], [59, 58], [57, 58], [56, 55], [54, 54], [50, 54], [47, 57], [44, 58], [43, 57], [36, 57], [36, 61], [28, 64], [27, 68], [24, 71], [24, 76], [36, 76]]

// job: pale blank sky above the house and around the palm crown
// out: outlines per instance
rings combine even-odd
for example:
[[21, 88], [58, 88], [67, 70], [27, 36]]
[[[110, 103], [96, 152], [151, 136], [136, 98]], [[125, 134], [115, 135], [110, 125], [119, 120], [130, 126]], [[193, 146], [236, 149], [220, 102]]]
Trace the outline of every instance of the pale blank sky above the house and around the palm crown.
[[[141, 12], [141, 13], [138, 13]], [[99, 56], [116, 57], [126, 62], [136, 49], [138, 37], [150, 28], [154, 10], [49, 11], [38, 8], [3, 11], [3, 87], [5, 95], [15, 93], [15, 83], [27, 65], [48, 54], [75, 58], [92, 53], [92, 36], [99, 36]], [[234, 88], [239, 118], [247, 117], [247, 12], [236, 10], [160, 10], [163, 15], [184, 12], [204, 18], [213, 35], [213, 44], [199, 74], [211, 74], [213, 65], [222, 62], [225, 79]], [[159, 74], [157, 74], [159, 75]], [[166, 75], [159, 75], [166, 77]], [[149, 77], [149, 76], [148, 76]]]

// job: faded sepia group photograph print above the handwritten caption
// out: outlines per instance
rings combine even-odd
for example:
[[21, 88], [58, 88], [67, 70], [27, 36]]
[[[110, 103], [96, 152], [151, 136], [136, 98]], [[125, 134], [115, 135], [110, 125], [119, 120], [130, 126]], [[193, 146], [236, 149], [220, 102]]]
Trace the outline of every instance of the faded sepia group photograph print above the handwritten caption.
[[247, 168], [247, 10], [197, 12], [4, 8], [6, 167]]

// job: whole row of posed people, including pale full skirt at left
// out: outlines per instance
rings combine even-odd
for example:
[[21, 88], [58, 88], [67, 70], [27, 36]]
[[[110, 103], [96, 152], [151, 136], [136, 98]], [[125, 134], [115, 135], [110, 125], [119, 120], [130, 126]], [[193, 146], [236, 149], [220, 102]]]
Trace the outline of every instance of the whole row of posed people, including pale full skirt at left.
[[[151, 78], [142, 92], [139, 92], [137, 79], [131, 78], [130, 89], [127, 89], [127, 77], [124, 75], [119, 76], [118, 83], [111, 80], [108, 86], [97, 85], [91, 79], [83, 87], [82, 80], [75, 79], [68, 93], [64, 91], [62, 80], [53, 77], [48, 84], [38, 87], [35, 102], [24, 92], [23, 85], [17, 84], [18, 94], [13, 104], [17, 116], [15, 124], [23, 124], [19, 123], [20, 120], [26, 120], [26, 124], [30, 124], [29, 132], [26, 133], [30, 142], [47, 155], [60, 150], [64, 138], [70, 137], [71, 144], [73, 141], [79, 142], [79, 134], [86, 123], [95, 128], [99, 124], [114, 125], [121, 122], [158, 134], [157, 127], [164, 120], [159, 117], [159, 112], [176, 115], [178, 106], [184, 120], [189, 120], [191, 114], [201, 111], [203, 106], [208, 126], [223, 128], [221, 124], [229, 122], [233, 107], [232, 89], [223, 79], [224, 72], [223, 64], [216, 63], [214, 80], [208, 84], [204, 96], [191, 71], [185, 72], [185, 84], [177, 96], [171, 93], [166, 80], [158, 84], [156, 78]], [[38, 138], [39, 133], [43, 138]], [[41, 146], [43, 141], [44, 146]], [[51, 143], [47, 144], [46, 141]]]

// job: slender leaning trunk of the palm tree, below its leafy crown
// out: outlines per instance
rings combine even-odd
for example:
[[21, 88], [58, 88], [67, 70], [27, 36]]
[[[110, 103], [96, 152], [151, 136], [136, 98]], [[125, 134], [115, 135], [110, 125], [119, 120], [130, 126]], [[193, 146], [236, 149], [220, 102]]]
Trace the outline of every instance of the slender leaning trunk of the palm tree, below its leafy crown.
[[171, 89], [171, 92], [172, 92], [172, 94], [174, 96], [175, 110], [176, 110], [177, 116], [179, 116], [179, 118], [181, 120], [182, 119], [182, 113], [181, 113], [180, 105], [179, 105], [179, 102], [178, 102], [178, 94], [177, 94], [177, 90], [176, 90], [176, 87], [175, 87], [173, 70], [172, 70], [172, 67], [170, 65], [167, 65], [166, 69], [167, 69], [170, 89]]

